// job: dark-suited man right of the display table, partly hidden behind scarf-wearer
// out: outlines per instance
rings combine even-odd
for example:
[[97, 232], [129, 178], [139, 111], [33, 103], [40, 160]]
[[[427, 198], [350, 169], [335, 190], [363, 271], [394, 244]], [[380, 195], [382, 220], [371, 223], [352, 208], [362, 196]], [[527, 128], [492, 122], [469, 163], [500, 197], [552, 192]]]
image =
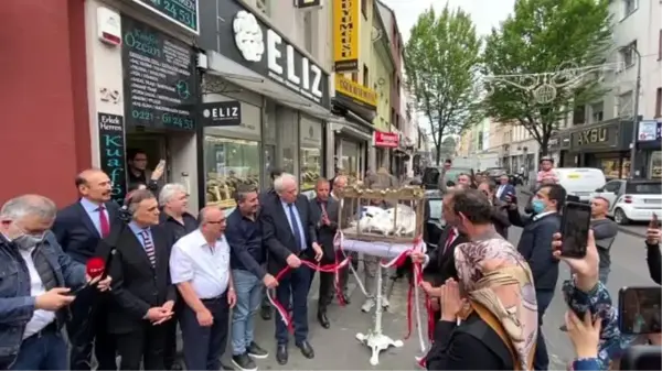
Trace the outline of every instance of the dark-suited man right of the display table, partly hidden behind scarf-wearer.
[[[449, 192], [444, 196], [441, 214], [444, 216], [444, 220], [446, 220], [446, 228], [444, 228], [444, 231], [439, 237], [439, 243], [437, 244], [437, 248], [428, 251], [425, 254], [412, 254], [412, 260], [417, 263], [423, 263], [426, 273], [429, 272], [431, 275], [433, 282], [424, 282], [424, 284], [435, 287], [441, 286], [448, 279], [458, 279], [458, 272], [455, 266], [453, 251], [457, 245], [469, 242], [469, 238], [465, 233], [460, 232], [456, 227], [453, 195], [455, 192]], [[433, 301], [433, 308], [435, 309], [435, 318], [439, 320], [439, 318], [441, 318], [441, 312], [439, 309], [438, 301]]]

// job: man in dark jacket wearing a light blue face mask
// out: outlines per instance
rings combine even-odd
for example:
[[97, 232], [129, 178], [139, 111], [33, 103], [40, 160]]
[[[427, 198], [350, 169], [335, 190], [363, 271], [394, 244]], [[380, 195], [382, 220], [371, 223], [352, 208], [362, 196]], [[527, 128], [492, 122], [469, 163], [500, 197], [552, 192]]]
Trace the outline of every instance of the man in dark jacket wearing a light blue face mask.
[[533, 273], [535, 295], [538, 307], [538, 336], [535, 350], [534, 370], [546, 371], [549, 365], [547, 348], [543, 338], [542, 325], [545, 310], [554, 298], [556, 281], [558, 281], [558, 260], [552, 254], [554, 233], [560, 229], [560, 216], [566, 199], [566, 190], [558, 184], [545, 184], [533, 196], [531, 206], [534, 216], [523, 217], [517, 205], [508, 197], [509, 219], [513, 226], [522, 227], [522, 236], [517, 251], [526, 259]]

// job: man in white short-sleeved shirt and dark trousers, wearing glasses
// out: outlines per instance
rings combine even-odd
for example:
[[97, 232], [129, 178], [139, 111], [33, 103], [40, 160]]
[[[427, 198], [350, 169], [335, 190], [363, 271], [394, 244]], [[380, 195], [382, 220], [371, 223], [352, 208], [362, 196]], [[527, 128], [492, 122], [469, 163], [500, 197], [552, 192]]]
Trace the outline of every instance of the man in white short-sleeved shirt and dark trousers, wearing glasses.
[[217, 371], [225, 350], [229, 309], [236, 303], [225, 222], [223, 210], [205, 207], [200, 228], [172, 247], [170, 274], [185, 302], [179, 318], [186, 370]]

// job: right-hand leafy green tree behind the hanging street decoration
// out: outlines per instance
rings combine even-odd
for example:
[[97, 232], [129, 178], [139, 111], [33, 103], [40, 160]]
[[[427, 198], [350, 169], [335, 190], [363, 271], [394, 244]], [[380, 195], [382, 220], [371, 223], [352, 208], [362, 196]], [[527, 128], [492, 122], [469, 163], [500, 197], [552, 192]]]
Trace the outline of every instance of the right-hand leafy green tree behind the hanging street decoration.
[[[569, 75], [568, 66], [594, 66], [605, 63], [611, 44], [609, 0], [517, 0], [514, 14], [487, 37], [483, 53], [485, 75], [520, 78], [520, 84], [532, 86], [522, 89], [499, 78], [487, 79], [490, 94], [484, 97], [483, 109], [495, 121], [524, 127], [538, 142], [542, 155], [547, 154], [549, 138], [558, 123], [575, 107], [595, 102], [606, 89], [595, 74]], [[556, 89], [551, 101], [540, 102], [532, 94], [542, 86], [538, 76], [548, 74], [557, 84], [569, 84]], [[566, 73], [564, 73], [566, 72]], [[578, 78], [579, 76], [581, 78]], [[551, 75], [545, 75], [551, 76]], [[552, 97], [552, 96], [549, 96]], [[545, 99], [543, 99], [545, 100]], [[548, 99], [547, 99], [548, 100]]]

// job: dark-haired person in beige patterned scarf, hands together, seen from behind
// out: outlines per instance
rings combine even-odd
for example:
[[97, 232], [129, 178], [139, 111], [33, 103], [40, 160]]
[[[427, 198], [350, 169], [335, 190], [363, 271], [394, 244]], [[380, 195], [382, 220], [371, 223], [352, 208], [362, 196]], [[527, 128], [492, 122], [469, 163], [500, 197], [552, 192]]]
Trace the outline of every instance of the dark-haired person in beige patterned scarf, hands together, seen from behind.
[[423, 285], [439, 297], [442, 314], [427, 369], [531, 370], [538, 326], [528, 265], [494, 231], [492, 207], [482, 193], [465, 189], [452, 197], [456, 227], [471, 242], [455, 250], [458, 282]]

